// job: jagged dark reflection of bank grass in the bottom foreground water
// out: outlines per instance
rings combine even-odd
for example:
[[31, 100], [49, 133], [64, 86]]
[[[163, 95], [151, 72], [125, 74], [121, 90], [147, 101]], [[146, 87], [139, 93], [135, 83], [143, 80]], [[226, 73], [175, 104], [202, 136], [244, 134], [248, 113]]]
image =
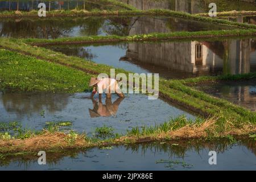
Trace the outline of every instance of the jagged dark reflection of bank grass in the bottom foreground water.
[[[224, 152], [229, 150], [233, 145], [246, 147], [255, 153], [255, 136], [250, 138], [232, 137], [207, 139], [207, 140], [170, 140], [165, 142], [151, 142], [141, 144], [126, 144], [121, 146], [125, 151], [131, 151], [135, 154], [144, 154], [145, 151], [164, 152], [169, 156], [178, 156], [184, 158], [188, 151], [195, 150], [200, 152], [208, 149], [209, 151]], [[101, 150], [112, 150], [113, 146], [98, 147]], [[63, 150], [62, 148], [55, 148], [55, 150], [47, 150], [47, 164], [55, 164], [60, 162], [64, 157], [76, 158], [79, 154], [86, 152], [84, 148], [74, 148], [73, 150]], [[19, 164], [26, 164], [29, 161], [38, 160], [38, 151], [23, 151], [14, 153], [0, 154], [0, 166], [8, 166], [11, 162], [19, 162]], [[161, 160], [159, 161], [161, 162]]]

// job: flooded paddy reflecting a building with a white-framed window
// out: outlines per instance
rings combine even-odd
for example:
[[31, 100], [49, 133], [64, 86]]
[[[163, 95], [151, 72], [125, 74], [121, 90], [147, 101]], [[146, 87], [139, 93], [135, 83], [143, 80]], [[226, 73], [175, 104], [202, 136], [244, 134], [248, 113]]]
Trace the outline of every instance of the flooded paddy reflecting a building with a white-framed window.
[[135, 73], [159, 73], [166, 78], [256, 71], [256, 44], [253, 38], [48, 48]]

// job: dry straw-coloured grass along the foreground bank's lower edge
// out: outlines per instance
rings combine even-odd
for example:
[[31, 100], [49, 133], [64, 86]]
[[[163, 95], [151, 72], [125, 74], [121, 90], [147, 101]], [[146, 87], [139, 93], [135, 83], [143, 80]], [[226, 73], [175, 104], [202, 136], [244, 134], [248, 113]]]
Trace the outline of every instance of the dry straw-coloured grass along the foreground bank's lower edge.
[[[11, 139], [0, 140], [0, 152], [20, 152], [20, 151], [39, 151], [39, 150], [61, 150], [70, 148], [86, 148], [96, 146], [109, 146], [115, 144], [129, 144], [152, 142], [159, 140], [174, 140], [174, 139], [205, 139], [209, 137], [209, 133], [214, 134], [216, 131], [216, 118], [209, 118], [204, 123], [192, 124], [181, 127], [177, 130], [167, 132], [157, 131], [150, 135], [131, 135], [124, 136], [118, 139], [106, 141], [89, 142], [84, 135], [77, 135], [77, 138], [71, 143], [69, 135], [64, 133], [49, 133], [44, 130], [40, 135], [27, 139]], [[214, 137], [225, 137], [226, 135], [246, 135], [256, 132], [255, 125], [244, 125], [242, 128], [230, 128], [223, 133], [217, 133]]]

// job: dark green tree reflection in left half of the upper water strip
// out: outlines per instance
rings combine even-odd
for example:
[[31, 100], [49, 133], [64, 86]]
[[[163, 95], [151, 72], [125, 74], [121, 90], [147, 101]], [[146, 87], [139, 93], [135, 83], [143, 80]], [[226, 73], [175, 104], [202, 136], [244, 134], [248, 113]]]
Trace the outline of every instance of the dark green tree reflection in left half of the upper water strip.
[[[50, 18], [50, 19], [6, 19], [1, 23], [0, 36], [14, 38], [46, 38], [56, 39], [72, 35], [79, 27], [78, 35], [99, 35], [102, 30], [109, 35], [128, 35], [127, 26], [123, 26], [123, 18]], [[102, 30], [101, 30], [102, 28]]]

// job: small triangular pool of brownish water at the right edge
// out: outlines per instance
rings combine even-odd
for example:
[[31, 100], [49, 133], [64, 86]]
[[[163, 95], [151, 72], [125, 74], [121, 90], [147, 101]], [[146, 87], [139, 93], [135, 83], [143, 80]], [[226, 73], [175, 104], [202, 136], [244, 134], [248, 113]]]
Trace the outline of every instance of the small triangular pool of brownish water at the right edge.
[[201, 84], [197, 89], [256, 111], [256, 80]]

